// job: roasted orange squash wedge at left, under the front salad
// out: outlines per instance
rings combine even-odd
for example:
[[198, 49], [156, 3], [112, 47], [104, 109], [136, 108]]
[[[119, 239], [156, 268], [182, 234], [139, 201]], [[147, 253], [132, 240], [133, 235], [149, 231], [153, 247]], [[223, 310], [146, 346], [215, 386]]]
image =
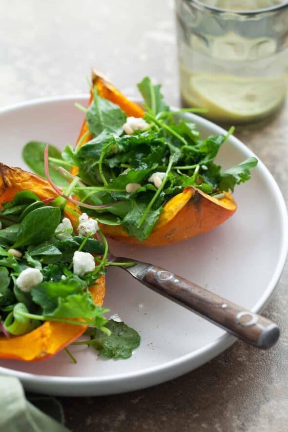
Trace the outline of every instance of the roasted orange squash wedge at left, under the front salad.
[[[49, 183], [41, 177], [22, 171], [20, 168], [0, 164], [0, 204], [3, 201], [11, 201], [21, 190], [31, 190], [41, 200], [57, 196]], [[72, 225], [77, 220], [77, 217], [69, 212], [66, 212], [65, 216], [71, 220]], [[101, 276], [89, 289], [94, 303], [102, 306], [105, 276]], [[0, 336], [0, 358], [24, 361], [44, 360], [81, 336], [85, 329], [87, 326], [46, 321], [37, 329], [21, 336], [9, 339]]]

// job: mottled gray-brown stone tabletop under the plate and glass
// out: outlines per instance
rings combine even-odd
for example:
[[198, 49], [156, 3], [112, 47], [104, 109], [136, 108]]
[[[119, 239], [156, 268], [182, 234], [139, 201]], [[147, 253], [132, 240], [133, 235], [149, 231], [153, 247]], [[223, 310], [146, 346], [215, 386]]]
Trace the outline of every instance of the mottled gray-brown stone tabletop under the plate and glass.
[[[0, 107], [86, 92], [95, 65], [127, 94], [144, 75], [179, 103], [172, 0], [0, 1]], [[268, 166], [288, 200], [288, 108], [266, 126], [236, 132]], [[117, 396], [62, 398], [82, 431], [284, 432], [288, 430], [288, 269], [264, 314], [282, 335], [261, 352], [237, 342], [202, 368]]]

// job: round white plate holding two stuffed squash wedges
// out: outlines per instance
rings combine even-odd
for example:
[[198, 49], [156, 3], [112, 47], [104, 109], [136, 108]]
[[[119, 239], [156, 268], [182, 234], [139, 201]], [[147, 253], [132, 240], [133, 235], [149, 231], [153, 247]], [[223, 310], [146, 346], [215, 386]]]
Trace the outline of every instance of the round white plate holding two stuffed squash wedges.
[[[86, 96], [23, 103], [0, 112], [0, 161], [25, 165], [21, 149], [30, 140], [74, 144], [83, 115], [74, 102]], [[204, 136], [223, 129], [191, 115]], [[218, 161], [235, 165], [253, 153], [230, 137]], [[288, 249], [287, 211], [281, 192], [259, 161], [252, 179], [236, 187], [238, 210], [225, 224], [168, 247], [132, 247], [110, 242], [123, 256], [148, 261], [183, 275], [253, 311], [267, 303], [281, 275]], [[135, 282], [121, 269], [107, 273], [105, 306], [117, 312], [142, 337], [128, 360], [105, 360], [84, 347], [71, 348], [39, 362], [0, 360], [0, 373], [17, 376], [26, 389], [59, 395], [101, 395], [138, 390], [175, 378], [203, 365], [235, 338], [188, 310]], [[143, 304], [143, 308], [139, 304]]]

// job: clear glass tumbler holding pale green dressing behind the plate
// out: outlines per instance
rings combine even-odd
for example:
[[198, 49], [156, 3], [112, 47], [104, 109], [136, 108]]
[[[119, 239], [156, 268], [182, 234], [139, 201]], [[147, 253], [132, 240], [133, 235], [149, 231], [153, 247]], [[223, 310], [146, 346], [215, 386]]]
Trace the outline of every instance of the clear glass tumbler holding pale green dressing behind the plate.
[[282, 107], [288, 2], [176, 0], [176, 16], [185, 106], [206, 108], [207, 118], [230, 124], [269, 119]]

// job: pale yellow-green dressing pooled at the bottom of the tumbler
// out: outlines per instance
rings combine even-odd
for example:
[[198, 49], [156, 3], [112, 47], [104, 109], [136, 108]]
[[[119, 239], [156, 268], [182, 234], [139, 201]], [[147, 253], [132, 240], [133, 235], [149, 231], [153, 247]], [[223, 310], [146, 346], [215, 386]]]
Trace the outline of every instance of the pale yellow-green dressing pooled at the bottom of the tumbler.
[[191, 74], [182, 96], [190, 106], [204, 107], [207, 117], [222, 122], [245, 123], [268, 116], [286, 96], [284, 79], [240, 78]]

